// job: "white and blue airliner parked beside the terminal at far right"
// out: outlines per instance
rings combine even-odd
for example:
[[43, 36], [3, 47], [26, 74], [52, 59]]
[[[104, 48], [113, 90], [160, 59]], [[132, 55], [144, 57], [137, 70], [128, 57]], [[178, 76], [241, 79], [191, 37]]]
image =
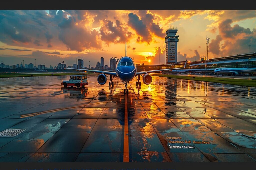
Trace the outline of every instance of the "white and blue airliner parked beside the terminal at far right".
[[233, 76], [239, 75], [239, 73], [246, 73], [246, 72], [256, 72], [256, 69], [249, 69], [248, 67], [243, 68], [225, 68], [225, 67], [219, 67], [214, 70], [214, 73], [218, 74], [230, 74]]

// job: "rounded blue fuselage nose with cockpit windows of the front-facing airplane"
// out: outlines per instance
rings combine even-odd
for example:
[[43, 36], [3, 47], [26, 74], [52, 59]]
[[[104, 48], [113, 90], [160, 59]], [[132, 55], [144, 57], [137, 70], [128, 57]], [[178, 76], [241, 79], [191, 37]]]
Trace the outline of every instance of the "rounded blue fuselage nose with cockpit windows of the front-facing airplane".
[[116, 63], [116, 75], [122, 81], [131, 81], [137, 72], [136, 64], [130, 57], [122, 57]]

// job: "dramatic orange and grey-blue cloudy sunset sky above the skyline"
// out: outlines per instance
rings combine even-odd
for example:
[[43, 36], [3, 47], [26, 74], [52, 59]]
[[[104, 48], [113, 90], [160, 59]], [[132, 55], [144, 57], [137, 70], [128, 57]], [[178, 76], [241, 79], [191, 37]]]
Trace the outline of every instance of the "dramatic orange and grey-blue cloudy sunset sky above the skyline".
[[56, 66], [125, 55], [135, 63], [165, 63], [165, 31], [177, 27], [178, 61], [256, 52], [255, 10], [0, 10], [0, 62]]

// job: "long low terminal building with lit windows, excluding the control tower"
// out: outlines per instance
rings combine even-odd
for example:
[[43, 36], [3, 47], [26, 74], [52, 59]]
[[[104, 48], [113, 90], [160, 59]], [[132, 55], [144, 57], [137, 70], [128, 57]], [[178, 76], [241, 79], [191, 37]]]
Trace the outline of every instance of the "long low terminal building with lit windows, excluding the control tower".
[[[137, 71], [148, 71], [157, 69], [174, 69], [183, 68], [185, 61], [179, 61], [176, 64], [162, 64], [162, 65], [144, 65], [138, 66]], [[222, 56], [218, 58], [211, 58], [208, 60], [187, 61], [185, 69], [216, 69], [219, 67], [229, 68], [256, 68], [256, 52], [236, 54], [231, 56]]]

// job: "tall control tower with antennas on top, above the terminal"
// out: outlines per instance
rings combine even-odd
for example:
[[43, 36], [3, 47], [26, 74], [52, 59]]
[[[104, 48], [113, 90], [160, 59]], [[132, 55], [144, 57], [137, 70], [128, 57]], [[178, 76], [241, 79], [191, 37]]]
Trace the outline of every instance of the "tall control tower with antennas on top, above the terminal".
[[166, 64], [177, 64], [177, 44], [179, 35], [176, 35], [178, 29], [168, 29], [165, 37], [166, 43]]

